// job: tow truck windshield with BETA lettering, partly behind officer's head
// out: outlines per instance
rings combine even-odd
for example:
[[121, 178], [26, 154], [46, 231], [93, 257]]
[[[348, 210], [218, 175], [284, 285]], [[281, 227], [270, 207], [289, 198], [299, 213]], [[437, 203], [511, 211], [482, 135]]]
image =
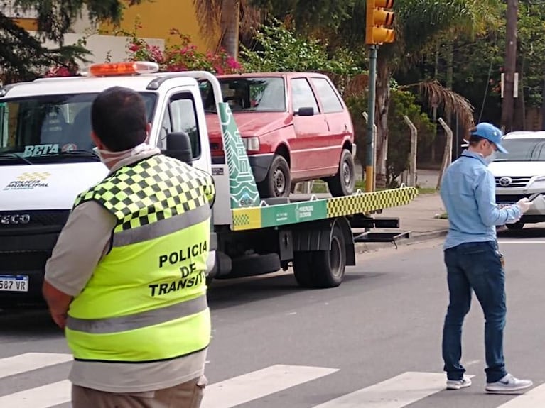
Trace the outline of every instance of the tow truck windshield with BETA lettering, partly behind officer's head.
[[[156, 94], [141, 93], [151, 122]], [[92, 153], [91, 105], [97, 94], [0, 101], [0, 165], [99, 160]]]

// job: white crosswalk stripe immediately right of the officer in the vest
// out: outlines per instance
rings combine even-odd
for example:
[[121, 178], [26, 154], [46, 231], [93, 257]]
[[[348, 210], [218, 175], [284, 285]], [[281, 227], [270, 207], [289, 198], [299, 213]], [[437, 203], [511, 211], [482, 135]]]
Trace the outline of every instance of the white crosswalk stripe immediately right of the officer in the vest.
[[[335, 373], [336, 368], [271, 365], [263, 370], [208, 385], [203, 408], [231, 408]], [[1, 404], [0, 404], [1, 407]]]

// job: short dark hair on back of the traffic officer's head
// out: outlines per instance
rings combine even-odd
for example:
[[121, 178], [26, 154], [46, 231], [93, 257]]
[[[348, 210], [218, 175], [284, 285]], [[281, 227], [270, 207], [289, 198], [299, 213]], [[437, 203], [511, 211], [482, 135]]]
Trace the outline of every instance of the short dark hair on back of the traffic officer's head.
[[128, 150], [146, 140], [146, 106], [138, 92], [124, 87], [102, 91], [91, 108], [92, 129], [108, 150]]

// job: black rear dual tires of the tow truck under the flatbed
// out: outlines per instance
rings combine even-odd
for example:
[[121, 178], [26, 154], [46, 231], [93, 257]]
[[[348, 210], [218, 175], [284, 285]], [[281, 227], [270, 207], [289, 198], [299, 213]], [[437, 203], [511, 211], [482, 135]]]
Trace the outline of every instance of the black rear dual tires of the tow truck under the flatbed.
[[301, 287], [338, 287], [345, 277], [345, 267], [345, 236], [339, 226], [333, 227], [331, 249], [293, 254], [293, 275]]

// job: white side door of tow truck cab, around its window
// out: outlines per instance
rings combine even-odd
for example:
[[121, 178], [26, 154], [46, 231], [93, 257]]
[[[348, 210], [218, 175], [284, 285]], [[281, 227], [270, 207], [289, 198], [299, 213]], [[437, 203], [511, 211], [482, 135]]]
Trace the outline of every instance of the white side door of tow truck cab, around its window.
[[198, 89], [173, 88], [166, 94], [161, 107], [161, 128], [158, 133], [158, 148], [166, 149], [166, 136], [171, 132], [188, 133], [193, 153], [193, 167], [211, 173], [210, 145], [206, 119], [199, 101]]

